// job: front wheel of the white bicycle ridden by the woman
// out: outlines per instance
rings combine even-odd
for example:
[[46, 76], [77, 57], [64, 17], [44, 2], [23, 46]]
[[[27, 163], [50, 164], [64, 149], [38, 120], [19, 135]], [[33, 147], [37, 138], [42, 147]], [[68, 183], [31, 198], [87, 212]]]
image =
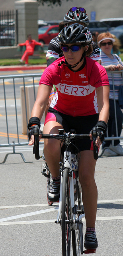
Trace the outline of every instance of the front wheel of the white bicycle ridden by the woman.
[[63, 172], [62, 185], [62, 256], [70, 256], [70, 240], [71, 240], [71, 226], [72, 212], [70, 206], [70, 184], [68, 177], [68, 169]]

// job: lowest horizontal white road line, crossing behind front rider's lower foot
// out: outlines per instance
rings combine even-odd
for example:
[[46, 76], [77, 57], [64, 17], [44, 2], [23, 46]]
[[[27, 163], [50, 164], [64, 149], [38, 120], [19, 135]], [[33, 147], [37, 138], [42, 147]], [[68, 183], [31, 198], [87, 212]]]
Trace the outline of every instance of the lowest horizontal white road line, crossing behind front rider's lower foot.
[[[4, 226], [4, 225], [20, 225], [20, 224], [53, 223], [53, 222], [55, 222], [55, 220], [27, 220], [27, 221], [2, 222], [2, 223], [0, 223], [0, 226]], [[85, 218], [83, 218], [82, 220], [85, 221]], [[123, 216], [97, 217], [96, 221], [98, 221], [98, 220], [123, 220]]]

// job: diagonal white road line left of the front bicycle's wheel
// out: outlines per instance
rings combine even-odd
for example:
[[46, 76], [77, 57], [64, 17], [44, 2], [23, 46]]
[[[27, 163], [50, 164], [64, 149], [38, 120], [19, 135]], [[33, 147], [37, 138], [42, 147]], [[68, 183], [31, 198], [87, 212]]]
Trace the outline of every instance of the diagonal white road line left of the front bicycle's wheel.
[[37, 214], [53, 212], [53, 211], [56, 211], [56, 210], [58, 210], [58, 208], [46, 209], [46, 210], [41, 210], [41, 211], [37, 211], [37, 212], [28, 212], [28, 213], [24, 213], [24, 214], [20, 214], [20, 215], [15, 215], [15, 216], [7, 217], [7, 218], [2, 218], [2, 219], [0, 219], [0, 222], [7, 221], [7, 220], [16, 220], [16, 219], [20, 219], [20, 218], [24, 218], [24, 217], [28, 217], [28, 216], [37, 215]]

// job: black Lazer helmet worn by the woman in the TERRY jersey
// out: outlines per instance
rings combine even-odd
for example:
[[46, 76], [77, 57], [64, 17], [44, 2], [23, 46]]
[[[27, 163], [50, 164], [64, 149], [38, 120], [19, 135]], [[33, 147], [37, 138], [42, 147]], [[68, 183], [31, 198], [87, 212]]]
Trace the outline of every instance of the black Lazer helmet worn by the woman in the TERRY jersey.
[[88, 28], [74, 23], [70, 26], [66, 26], [61, 30], [58, 35], [59, 44], [90, 44], [92, 42], [92, 34]]

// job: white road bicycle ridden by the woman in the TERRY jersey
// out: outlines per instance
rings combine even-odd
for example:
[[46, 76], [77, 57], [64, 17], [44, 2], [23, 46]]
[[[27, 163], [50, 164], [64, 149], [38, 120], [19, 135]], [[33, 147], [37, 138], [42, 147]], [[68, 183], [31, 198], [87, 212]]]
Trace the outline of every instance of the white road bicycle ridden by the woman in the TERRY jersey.
[[[38, 138], [37, 130], [35, 130], [35, 141]], [[84, 218], [84, 210], [82, 208], [82, 189], [79, 182], [78, 171], [76, 172], [76, 196], [74, 195], [74, 181], [72, 170], [71, 154], [76, 156], [76, 162], [79, 160], [79, 150], [75, 146], [75, 140], [80, 138], [87, 138], [89, 134], [74, 134], [73, 131], [65, 133], [64, 130], [59, 130], [59, 134], [42, 134], [42, 138], [56, 138], [61, 140], [60, 152], [62, 144], [64, 145], [63, 154], [61, 154], [60, 172], [61, 172], [61, 189], [59, 198], [59, 209], [57, 214], [56, 224], [61, 225], [62, 230], [62, 256], [70, 256], [70, 243], [72, 234], [72, 250], [73, 256], [80, 256], [80, 254], [95, 253], [96, 250], [83, 250], [83, 234], [82, 234], [82, 218]], [[94, 158], [98, 159], [98, 147], [96, 146], [97, 132], [96, 128], [92, 134], [94, 144]], [[36, 143], [35, 143], [36, 146]], [[33, 150], [33, 153], [36, 151]], [[75, 162], [75, 161], [74, 161]], [[43, 165], [42, 174], [47, 177], [47, 192], [50, 182], [50, 170], [46, 164]], [[46, 174], [47, 172], [47, 174]], [[52, 205], [53, 202], [49, 202]]]

